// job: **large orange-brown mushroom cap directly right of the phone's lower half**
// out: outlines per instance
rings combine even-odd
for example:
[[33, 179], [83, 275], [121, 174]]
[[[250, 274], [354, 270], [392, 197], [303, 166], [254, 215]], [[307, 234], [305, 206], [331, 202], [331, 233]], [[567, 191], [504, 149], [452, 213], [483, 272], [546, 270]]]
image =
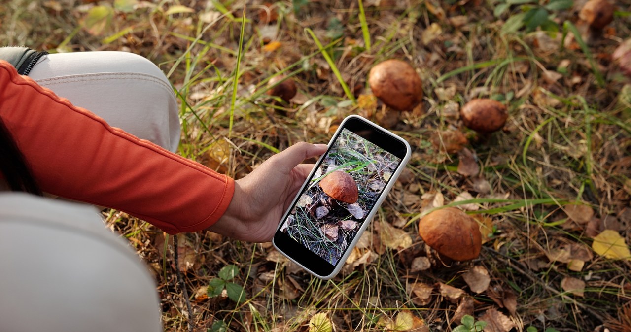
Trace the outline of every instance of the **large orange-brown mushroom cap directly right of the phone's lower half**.
[[440, 255], [456, 261], [473, 260], [482, 249], [478, 222], [454, 207], [425, 215], [418, 222], [418, 234]]

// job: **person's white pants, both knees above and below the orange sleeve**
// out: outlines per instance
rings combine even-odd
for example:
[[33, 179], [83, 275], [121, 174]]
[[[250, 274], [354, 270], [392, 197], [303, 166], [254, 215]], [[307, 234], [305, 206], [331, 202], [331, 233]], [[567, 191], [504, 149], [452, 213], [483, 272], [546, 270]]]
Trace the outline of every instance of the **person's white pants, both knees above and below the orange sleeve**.
[[[173, 90], [139, 55], [50, 54], [29, 77], [114, 127], [177, 149]], [[155, 282], [94, 207], [1, 192], [0, 234], [0, 331], [162, 330]]]

